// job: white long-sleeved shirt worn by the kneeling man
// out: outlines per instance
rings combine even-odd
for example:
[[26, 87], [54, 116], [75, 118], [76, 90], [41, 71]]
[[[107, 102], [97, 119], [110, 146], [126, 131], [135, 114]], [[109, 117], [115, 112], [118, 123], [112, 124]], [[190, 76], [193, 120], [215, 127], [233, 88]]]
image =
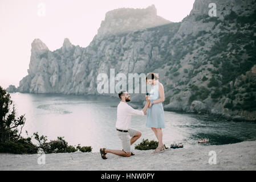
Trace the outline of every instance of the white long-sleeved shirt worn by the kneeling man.
[[131, 125], [132, 115], [144, 115], [142, 110], [133, 109], [127, 103], [120, 101], [117, 106], [116, 128], [127, 130]]

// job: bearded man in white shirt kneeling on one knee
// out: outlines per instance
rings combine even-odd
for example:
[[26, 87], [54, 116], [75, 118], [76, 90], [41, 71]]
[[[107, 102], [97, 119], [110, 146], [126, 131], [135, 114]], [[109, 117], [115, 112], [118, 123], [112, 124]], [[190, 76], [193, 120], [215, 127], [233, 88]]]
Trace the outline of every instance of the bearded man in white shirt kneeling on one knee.
[[[106, 154], [111, 153], [124, 157], [132, 155], [131, 145], [141, 137], [141, 132], [130, 127], [132, 115], [146, 115], [150, 100], [146, 102], [142, 110], [133, 109], [127, 104], [131, 101], [130, 95], [126, 90], [119, 92], [120, 103], [117, 106], [116, 132], [121, 140], [123, 150], [111, 150], [108, 148], [100, 148], [101, 158], [107, 159]], [[130, 137], [132, 137], [130, 139]], [[134, 154], [133, 154], [134, 155]]]

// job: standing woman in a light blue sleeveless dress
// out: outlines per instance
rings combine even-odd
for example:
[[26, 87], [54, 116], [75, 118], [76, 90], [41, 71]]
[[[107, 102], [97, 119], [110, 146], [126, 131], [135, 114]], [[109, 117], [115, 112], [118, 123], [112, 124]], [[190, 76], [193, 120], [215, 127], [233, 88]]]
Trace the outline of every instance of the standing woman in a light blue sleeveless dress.
[[147, 122], [146, 126], [151, 127], [159, 141], [159, 146], [152, 154], [164, 151], [164, 143], [162, 143], [162, 129], [165, 128], [164, 121], [164, 86], [159, 82], [159, 76], [155, 73], [148, 73], [146, 82], [152, 85], [150, 95], [147, 96], [147, 100], [150, 100], [150, 104], [147, 109]]

